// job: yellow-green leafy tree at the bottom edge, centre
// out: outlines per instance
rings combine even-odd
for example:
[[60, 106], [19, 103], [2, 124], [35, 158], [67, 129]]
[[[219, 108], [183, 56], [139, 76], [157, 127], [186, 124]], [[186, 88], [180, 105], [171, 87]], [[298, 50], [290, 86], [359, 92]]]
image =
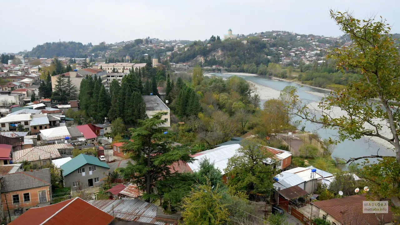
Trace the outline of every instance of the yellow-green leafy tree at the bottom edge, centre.
[[210, 183], [193, 188], [191, 195], [184, 197], [182, 209], [185, 225], [222, 225], [228, 221], [222, 194], [218, 193], [218, 186], [212, 189]]

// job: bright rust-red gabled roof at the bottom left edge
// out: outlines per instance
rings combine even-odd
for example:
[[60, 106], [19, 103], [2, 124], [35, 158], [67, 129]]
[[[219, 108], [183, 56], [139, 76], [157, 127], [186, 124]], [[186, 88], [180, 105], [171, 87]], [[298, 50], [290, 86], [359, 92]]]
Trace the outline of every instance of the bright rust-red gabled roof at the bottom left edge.
[[32, 208], [14, 219], [10, 225], [108, 225], [111, 215], [79, 197], [44, 207]]

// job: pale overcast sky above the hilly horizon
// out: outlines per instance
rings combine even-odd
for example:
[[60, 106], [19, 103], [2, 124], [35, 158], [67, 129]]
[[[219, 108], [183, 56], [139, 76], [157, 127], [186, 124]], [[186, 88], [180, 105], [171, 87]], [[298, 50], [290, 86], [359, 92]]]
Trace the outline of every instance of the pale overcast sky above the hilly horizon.
[[359, 18], [377, 14], [400, 33], [399, 0], [0, 0], [0, 5], [0, 53], [58, 40], [204, 40], [229, 28], [234, 34], [287, 30], [339, 36], [330, 8], [354, 11]]

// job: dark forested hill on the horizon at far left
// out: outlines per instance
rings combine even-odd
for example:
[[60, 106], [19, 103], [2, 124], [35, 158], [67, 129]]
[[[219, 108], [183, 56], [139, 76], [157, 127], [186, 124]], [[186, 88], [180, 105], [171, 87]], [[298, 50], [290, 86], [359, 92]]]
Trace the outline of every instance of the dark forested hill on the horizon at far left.
[[92, 44], [82, 44], [80, 42], [46, 42], [40, 44], [29, 51], [28, 57], [52, 58], [70, 57], [86, 58], [87, 51]]

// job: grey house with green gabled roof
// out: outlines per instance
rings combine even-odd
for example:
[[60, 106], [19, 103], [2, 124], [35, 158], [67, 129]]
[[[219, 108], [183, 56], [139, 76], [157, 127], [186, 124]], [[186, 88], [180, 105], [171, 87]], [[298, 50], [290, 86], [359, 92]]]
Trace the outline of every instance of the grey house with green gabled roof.
[[64, 186], [75, 191], [102, 185], [110, 167], [97, 157], [80, 154], [61, 165], [61, 169]]

